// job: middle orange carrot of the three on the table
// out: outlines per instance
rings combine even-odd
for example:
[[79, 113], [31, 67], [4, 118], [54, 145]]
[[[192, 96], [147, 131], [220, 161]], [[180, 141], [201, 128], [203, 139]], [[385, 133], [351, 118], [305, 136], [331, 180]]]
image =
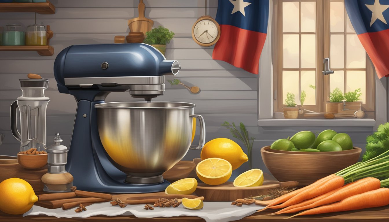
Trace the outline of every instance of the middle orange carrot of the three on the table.
[[321, 198], [320, 200], [310, 205], [305, 205], [305, 206], [293, 208], [291, 210], [286, 210], [284, 211], [284, 213], [296, 213], [296, 212], [300, 212], [301, 210], [312, 209], [317, 206], [321, 206], [329, 203], [335, 203], [341, 201], [342, 199], [348, 198], [350, 196], [354, 196], [356, 194], [361, 194], [364, 192], [379, 189], [380, 186], [381, 186], [381, 182], [377, 178], [366, 177], [357, 180], [356, 182], [353, 182], [351, 185], [343, 186], [342, 188], [337, 189], [335, 193], [325, 198]]

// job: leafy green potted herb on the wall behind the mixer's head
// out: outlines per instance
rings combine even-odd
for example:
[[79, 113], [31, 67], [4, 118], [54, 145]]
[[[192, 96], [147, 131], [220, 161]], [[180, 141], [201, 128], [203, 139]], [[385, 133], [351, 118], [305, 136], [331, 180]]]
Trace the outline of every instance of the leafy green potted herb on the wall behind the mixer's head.
[[149, 44], [158, 49], [163, 55], [165, 55], [166, 44], [172, 40], [174, 37], [174, 32], [169, 31], [163, 26], [158, 26], [158, 28], [153, 28], [150, 31], [146, 32], [147, 37], [143, 41], [145, 44]]

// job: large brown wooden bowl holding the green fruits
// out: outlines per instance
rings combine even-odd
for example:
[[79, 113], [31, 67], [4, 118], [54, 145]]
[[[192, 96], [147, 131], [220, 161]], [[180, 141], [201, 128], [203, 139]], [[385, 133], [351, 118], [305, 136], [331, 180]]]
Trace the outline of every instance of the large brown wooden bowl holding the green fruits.
[[261, 149], [261, 156], [277, 180], [294, 180], [300, 185], [309, 185], [357, 163], [361, 152], [358, 147], [336, 152], [298, 152], [272, 150], [267, 146]]

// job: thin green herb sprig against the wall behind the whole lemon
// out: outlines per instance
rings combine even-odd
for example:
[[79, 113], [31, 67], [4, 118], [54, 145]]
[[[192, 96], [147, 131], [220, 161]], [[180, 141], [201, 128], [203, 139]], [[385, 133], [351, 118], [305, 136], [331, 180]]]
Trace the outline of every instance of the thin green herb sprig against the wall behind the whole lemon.
[[254, 137], [249, 138], [249, 132], [247, 131], [245, 125], [242, 122], [240, 122], [239, 124], [240, 131], [238, 131], [238, 129], [235, 127], [235, 122], [232, 122], [231, 125], [229, 122], [224, 121], [224, 123], [221, 124], [221, 126], [226, 126], [227, 129], [230, 129], [230, 133], [232, 134], [232, 136], [242, 141], [242, 143], [246, 146], [248, 152], [247, 156], [249, 157], [250, 169], [252, 169], [251, 151], [252, 151], [252, 143], [254, 143], [255, 138]]

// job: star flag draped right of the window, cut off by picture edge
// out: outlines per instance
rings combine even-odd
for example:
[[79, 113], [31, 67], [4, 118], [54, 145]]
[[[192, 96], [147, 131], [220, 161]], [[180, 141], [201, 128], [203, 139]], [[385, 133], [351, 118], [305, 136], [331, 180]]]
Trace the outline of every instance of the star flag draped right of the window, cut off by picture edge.
[[345, 0], [352, 27], [379, 78], [389, 76], [389, 0]]

